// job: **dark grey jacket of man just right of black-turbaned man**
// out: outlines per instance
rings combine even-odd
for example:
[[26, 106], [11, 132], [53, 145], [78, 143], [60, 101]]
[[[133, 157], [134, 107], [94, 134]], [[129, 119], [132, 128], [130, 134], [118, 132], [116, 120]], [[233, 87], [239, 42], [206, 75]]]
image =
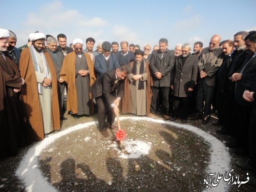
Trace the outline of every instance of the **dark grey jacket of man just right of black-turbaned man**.
[[[153, 87], [170, 87], [170, 76], [174, 68], [174, 51], [166, 49], [162, 54], [159, 50], [153, 51], [150, 58], [150, 71], [153, 79]], [[156, 72], [162, 74], [162, 79], [155, 76]]]

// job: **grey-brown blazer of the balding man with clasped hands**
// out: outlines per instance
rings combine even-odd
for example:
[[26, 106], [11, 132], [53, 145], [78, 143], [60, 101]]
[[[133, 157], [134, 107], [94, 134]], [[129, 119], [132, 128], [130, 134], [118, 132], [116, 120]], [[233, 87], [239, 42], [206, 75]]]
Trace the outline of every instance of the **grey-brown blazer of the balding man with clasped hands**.
[[[222, 48], [216, 48], [214, 51], [209, 52], [209, 48], [202, 50], [201, 57], [198, 62], [198, 70], [204, 71], [207, 76], [204, 78], [207, 86], [215, 86], [216, 72], [222, 64], [223, 50]], [[200, 77], [198, 81], [202, 80]]]

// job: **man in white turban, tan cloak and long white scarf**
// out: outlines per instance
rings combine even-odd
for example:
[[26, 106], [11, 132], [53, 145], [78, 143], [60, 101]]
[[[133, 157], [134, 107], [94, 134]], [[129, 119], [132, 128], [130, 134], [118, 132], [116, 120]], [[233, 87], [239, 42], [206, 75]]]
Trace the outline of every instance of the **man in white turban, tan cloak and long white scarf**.
[[42, 140], [60, 130], [57, 77], [51, 56], [43, 50], [46, 35], [31, 33], [32, 45], [22, 51], [20, 74], [25, 80], [21, 91], [34, 139]]

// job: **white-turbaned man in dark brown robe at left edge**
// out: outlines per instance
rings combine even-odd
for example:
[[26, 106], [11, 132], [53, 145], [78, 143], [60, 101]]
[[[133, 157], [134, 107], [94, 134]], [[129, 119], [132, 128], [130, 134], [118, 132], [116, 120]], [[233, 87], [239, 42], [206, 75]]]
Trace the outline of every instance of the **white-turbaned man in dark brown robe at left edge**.
[[17, 154], [32, 142], [31, 126], [19, 91], [24, 84], [16, 63], [4, 55], [9, 31], [0, 29], [0, 158]]

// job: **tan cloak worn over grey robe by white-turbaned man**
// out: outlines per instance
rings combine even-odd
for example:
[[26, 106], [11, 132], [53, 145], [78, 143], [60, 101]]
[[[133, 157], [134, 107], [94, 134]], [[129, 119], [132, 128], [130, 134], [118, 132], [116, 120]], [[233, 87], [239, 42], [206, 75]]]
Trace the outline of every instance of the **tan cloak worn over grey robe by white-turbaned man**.
[[[91, 57], [87, 53], [83, 53], [87, 59], [88, 69], [90, 71], [90, 87], [92, 86], [93, 82], [96, 80], [94, 74], [94, 66], [91, 61]], [[68, 99], [67, 99], [67, 110], [71, 111], [72, 114], [77, 114], [77, 95], [76, 95], [76, 71], [75, 71], [75, 62], [76, 62], [76, 53], [71, 52], [69, 53], [63, 60], [62, 67], [59, 73], [59, 76], [65, 80], [68, 84]], [[94, 113], [93, 107], [93, 99], [92, 94], [90, 96], [90, 108], [91, 114]]]

